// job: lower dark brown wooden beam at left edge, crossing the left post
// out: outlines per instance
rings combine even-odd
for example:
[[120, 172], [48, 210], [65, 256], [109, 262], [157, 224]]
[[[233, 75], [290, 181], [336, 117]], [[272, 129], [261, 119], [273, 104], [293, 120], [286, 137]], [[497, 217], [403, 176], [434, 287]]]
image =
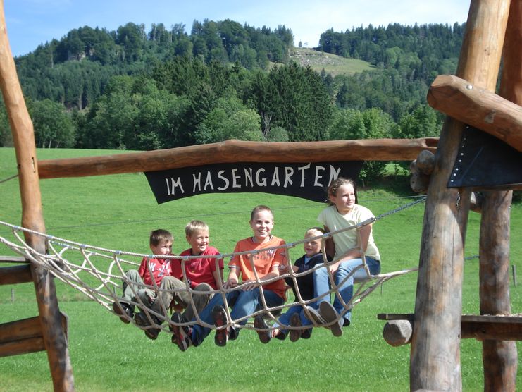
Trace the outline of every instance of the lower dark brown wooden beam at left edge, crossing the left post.
[[[61, 326], [67, 336], [68, 317], [61, 313]], [[0, 357], [44, 351], [40, 318], [31, 317], [0, 324]]]

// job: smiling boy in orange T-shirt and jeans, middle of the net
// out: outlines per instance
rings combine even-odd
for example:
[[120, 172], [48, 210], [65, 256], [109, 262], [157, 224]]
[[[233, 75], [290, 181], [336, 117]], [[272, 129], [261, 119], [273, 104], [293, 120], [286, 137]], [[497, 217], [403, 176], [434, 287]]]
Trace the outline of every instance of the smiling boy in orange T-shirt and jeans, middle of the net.
[[[260, 310], [263, 306], [261, 300], [261, 291], [259, 283], [256, 282], [254, 275], [254, 266], [257, 276], [263, 285], [263, 295], [268, 307], [281, 306], [285, 303], [285, 281], [278, 279], [271, 283], [263, 284], [263, 281], [277, 278], [279, 276], [280, 267], [287, 266], [287, 255], [285, 248], [269, 249], [285, 245], [285, 241], [271, 235], [274, 225], [272, 210], [266, 206], [259, 205], [255, 207], [250, 216], [250, 227], [254, 233], [253, 236], [240, 240], [234, 252], [259, 251], [258, 253], [247, 253], [244, 255], [235, 255], [230, 260], [230, 274], [225, 282], [225, 288], [235, 288], [239, 284], [240, 276], [242, 277], [242, 286], [237, 290], [232, 290], [226, 294], [226, 300], [232, 305], [230, 316], [232, 319], [241, 319], [241, 325], [247, 324], [249, 314]], [[232, 327], [220, 328], [227, 324], [227, 316], [224, 309], [223, 295], [214, 295], [209, 305], [201, 310], [199, 317], [206, 324], [214, 324], [216, 326], [216, 336], [214, 342], [217, 345], [224, 346], [227, 344], [228, 338], [235, 339], [239, 331]], [[209, 335], [211, 329], [194, 324], [191, 326], [180, 326], [180, 323], [186, 320], [182, 318], [179, 312], [173, 314], [170, 329], [173, 331], [173, 343], [177, 343], [180, 350], [185, 351], [190, 345], [200, 345], [204, 338]], [[192, 319], [195, 321], [195, 319]]]

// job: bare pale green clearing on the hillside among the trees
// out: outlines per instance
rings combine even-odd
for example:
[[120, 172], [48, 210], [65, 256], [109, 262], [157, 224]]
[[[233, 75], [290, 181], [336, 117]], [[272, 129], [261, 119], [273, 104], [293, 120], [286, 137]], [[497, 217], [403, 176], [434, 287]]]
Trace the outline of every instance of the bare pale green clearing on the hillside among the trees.
[[290, 59], [300, 66], [310, 66], [313, 71], [321, 73], [324, 69], [333, 77], [336, 75], [353, 75], [354, 73], [375, 69], [371, 63], [358, 59], [347, 59], [336, 54], [317, 51], [309, 48], [295, 47], [290, 51]]

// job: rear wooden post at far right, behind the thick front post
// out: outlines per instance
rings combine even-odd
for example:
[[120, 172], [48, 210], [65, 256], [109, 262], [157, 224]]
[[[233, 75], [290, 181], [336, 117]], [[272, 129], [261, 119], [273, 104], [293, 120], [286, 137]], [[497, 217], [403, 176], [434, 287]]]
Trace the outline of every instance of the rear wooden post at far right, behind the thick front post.
[[[522, 105], [522, 1], [511, 1], [504, 39], [499, 94]], [[519, 170], [514, 167], [511, 170]], [[480, 221], [480, 314], [511, 314], [509, 298], [509, 222], [513, 191], [483, 192]], [[518, 353], [514, 341], [482, 345], [484, 391], [516, 391]]]

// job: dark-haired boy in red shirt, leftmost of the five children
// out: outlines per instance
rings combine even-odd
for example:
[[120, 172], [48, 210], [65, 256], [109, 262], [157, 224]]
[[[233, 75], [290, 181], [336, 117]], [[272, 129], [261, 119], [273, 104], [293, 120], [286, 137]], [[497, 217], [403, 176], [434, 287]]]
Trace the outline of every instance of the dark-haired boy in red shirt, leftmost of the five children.
[[[130, 302], [136, 301], [135, 295], [141, 300], [144, 305], [150, 306], [151, 310], [166, 315], [166, 308], [170, 305], [173, 297], [181, 300], [181, 291], [175, 291], [185, 288], [185, 283], [178, 278], [171, 276], [172, 274], [172, 260], [161, 258], [163, 255], [171, 255], [173, 235], [163, 229], [154, 230], [150, 234], [149, 247], [153, 255], [159, 256], [154, 258], [144, 257], [142, 263], [139, 264], [139, 269], [131, 269], [125, 272], [126, 280], [123, 281], [123, 300], [120, 302], [113, 302], [113, 311], [120, 315], [121, 321], [125, 324], [130, 322], [134, 316], [136, 324], [139, 326], [150, 326], [151, 321], [156, 324], [161, 324], [157, 317], [151, 314], [151, 321], [147, 314], [139, 312], [134, 314], [134, 305]], [[152, 274], [152, 276], [151, 276]], [[153, 283], [154, 279], [154, 283]], [[158, 286], [161, 290], [159, 293], [147, 286]], [[160, 298], [161, 300], [156, 300]], [[158, 337], [159, 329], [145, 329], [145, 335], [148, 338], [156, 339]]]

